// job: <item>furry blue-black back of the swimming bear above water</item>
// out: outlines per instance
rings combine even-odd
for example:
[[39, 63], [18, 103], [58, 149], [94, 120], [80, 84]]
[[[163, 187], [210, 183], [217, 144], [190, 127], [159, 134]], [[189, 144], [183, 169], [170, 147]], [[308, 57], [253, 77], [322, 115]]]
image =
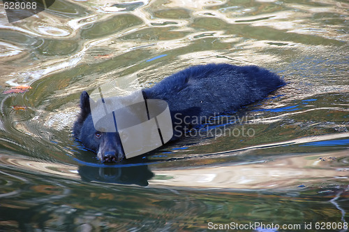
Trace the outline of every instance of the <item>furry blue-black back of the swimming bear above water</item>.
[[209, 117], [259, 101], [285, 82], [258, 66], [207, 64], [193, 66], [165, 78], [149, 89], [149, 99], [163, 99], [173, 112], [193, 108]]

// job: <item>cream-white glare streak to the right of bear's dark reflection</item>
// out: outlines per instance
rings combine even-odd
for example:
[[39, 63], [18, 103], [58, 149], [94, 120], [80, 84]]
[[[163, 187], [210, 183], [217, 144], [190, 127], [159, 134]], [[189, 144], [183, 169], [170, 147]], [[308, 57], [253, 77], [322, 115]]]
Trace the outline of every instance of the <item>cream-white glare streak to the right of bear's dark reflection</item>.
[[[299, 189], [312, 182], [348, 182], [348, 152], [273, 157], [250, 164], [225, 164], [154, 171], [149, 184], [213, 189]], [[338, 161], [337, 161], [338, 159]]]

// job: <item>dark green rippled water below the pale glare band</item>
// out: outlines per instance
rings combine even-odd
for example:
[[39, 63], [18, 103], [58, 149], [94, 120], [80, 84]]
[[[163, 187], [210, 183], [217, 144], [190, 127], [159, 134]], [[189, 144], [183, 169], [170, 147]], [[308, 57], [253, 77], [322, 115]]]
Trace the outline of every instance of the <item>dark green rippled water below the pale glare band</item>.
[[304, 230], [304, 222], [348, 222], [348, 191], [339, 182], [272, 193], [124, 187], [8, 169], [1, 175], [3, 229], [205, 231], [209, 222], [263, 222]]

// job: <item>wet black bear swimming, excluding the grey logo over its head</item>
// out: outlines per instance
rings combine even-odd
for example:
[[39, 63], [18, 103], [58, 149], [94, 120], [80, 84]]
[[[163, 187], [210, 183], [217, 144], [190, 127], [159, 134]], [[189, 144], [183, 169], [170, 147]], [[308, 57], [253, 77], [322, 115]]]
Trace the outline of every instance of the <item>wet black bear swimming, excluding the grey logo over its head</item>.
[[[207, 64], [170, 75], [153, 87], [142, 89], [142, 94], [144, 99], [168, 103], [173, 129], [171, 140], [177, 140], [184, 136], [184, 131], [199, 126], [202, 122], [198, 119], [260, 101], [283, 85], [285, 82], [278, 75], [258, 66]], [[75, 138], [96, 152], [103, 162], [123, 160], [125, 153], [118, 131], [96, 131], [87, 92], [80, 96], [80, 108], [73, 127]]]

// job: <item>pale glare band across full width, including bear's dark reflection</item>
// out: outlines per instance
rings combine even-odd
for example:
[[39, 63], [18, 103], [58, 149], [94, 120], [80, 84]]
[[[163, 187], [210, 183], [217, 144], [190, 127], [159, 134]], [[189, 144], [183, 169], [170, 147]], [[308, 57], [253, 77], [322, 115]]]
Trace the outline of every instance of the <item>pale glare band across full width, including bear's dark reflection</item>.
[[[197, 155], [201, 159], [224, 160], [225, 157], [237, 155], [240, 152], [226, 152], [225, 154]], [[327, 152], [320, 154], [288, 157], [264, 157], [251, 159], [245, 155], [244, 159], [235, 162], [223, 163], [219, 166], [200, 166], [188, 168], [173, 168], [166, 164], [169, 161], [144, 164], [124, 165], [80, 165], [44, 163], [25, 158], [15, 158], [10, 155], [1, 155], [3, 167], [16, 166], [23, 171], [53, 175], [87, 182], [105, 182], [117, 184], [136, 184], [150, 187], [172, 186], [209, 189], [298, 189], [299, 186], [310, 187], [313, 183], [330, 184], [348, 182], [348, 152]], [[192, 157], [177, 159], [177, 163], [188, 166]], [[231, 159], [231, 158], [230, 158]], [[173, 161], [172, 161], [173, 162]], [[205, 162], [210, 164], [212, 161]], [[164, 167], [165, 166], [165, 167]]]

